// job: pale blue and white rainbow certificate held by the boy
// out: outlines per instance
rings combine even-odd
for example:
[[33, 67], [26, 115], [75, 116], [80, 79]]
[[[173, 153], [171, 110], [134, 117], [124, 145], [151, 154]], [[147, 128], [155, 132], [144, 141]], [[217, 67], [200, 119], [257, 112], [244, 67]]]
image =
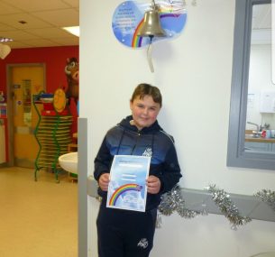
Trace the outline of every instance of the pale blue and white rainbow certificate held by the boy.
[[151, 157], [115, 155], [106, 207], [145, 212]]

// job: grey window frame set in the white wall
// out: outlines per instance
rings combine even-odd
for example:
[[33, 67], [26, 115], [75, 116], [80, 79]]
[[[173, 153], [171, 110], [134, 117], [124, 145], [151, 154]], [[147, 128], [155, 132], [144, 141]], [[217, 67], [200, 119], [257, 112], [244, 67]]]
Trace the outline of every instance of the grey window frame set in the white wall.
[[275, 152], [244, 151], [252, 36], [252, 6], [261, 4], [271, 4], [271, 1], [238, 0], [235, 2], [227, 166], [275, 170]]

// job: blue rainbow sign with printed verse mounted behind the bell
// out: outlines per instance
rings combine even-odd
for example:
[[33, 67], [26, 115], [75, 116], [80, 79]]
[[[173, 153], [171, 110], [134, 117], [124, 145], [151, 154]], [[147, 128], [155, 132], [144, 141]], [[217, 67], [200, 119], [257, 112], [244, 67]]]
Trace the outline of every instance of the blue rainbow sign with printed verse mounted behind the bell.
[[[153, 38], [153, 41], [170, 40], [179, 36], [182, 32], [187, 11], [183, 1], [160, 1], [160, 25], [168, 35], [164, 38]], [[141, 48], [150, 44], [148, 37], [138, 36], [142, 27], [144, 13], [150, 9], [151, 4], [140, 4], [135, 1], [126, 1], [118, 5], [113, 15], [113, 32], [115, 38], [125, 46], [131, 48]]]

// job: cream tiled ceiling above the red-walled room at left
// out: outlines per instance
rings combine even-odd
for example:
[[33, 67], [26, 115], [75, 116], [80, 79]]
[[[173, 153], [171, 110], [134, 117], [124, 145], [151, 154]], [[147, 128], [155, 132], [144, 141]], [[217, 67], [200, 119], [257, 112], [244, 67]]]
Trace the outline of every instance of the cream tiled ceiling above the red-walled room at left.
[[[79, 25], [79, 0], [0, 0], [0, 36], [12, 48], [78, 45], [61, 27]], [[19, 23], [25, 21], [26, 23]]]

